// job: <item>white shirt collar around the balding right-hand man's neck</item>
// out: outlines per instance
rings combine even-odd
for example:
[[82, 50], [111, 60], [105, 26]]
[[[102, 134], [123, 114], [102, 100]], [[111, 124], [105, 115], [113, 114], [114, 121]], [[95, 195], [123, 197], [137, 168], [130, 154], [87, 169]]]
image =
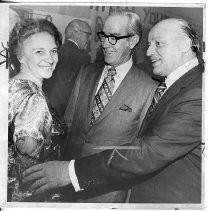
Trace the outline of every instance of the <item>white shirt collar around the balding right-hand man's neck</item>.
[[178, 67], [176, 70], [174, 70], [171, 74], [168, 75], [165, 80], [167, 88], [169, 88], [176, 80], [181, 78], [181, 76], [183, 76], [186, 72], [188, 72], [198, 64], [198, 59], [197, 57], [195, 57], [183, 64], [182, 66]]

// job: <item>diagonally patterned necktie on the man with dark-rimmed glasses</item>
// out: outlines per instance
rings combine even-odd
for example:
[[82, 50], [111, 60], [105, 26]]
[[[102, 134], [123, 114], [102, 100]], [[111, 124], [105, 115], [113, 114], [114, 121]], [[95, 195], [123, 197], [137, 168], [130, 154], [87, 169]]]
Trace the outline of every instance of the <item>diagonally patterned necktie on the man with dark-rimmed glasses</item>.
[[105, 106], [112, 98], [112, 93], [114, 90], [114, 76], [117, 74], [114, 67], [111, 67], [108, 70], [107, 76], [104, 78], [104, 81], [99, 88], [97, 94], [95, 95], [93, 110], [91, 115], [90, 125], [92, 126], [98, 117], [103, 112]]

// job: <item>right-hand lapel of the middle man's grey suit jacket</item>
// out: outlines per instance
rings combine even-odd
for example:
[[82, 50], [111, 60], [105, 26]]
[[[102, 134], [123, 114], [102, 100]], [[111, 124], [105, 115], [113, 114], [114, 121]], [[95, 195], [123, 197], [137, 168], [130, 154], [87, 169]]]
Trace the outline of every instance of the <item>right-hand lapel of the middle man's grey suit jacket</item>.
[[106, 105], [103, 113], [97, 119], [97, 122], [100, 122], [104, 117], [106, 117], [113, 109], [120, 105], [122, 101], [125, 100], [128, 96], [132, 94], [132, 91], [139, 84], [139, 69], [132, 66], [123, 81], [121, 82], [118, 89], [115, 91], [112, 99]]

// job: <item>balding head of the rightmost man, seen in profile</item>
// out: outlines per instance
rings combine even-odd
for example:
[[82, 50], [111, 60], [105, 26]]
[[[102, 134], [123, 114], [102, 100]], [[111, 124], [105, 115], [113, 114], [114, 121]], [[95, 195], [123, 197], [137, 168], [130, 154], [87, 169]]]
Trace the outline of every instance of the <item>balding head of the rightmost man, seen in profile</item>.
[[195, 48], [198, 50], [196, 33], [182, 19], [160, 21], [151, 29], [148, 41], [147, 56], [153, 63], [153, 72], [161, 76], [168, 76], [194, 58]]

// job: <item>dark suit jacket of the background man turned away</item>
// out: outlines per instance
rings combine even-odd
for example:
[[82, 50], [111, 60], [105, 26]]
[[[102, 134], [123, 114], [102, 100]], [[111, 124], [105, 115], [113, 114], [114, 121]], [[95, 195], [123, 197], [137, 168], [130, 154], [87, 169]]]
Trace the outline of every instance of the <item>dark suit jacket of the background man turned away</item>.
[[72, 41], [66, 40], [59, 48], [58, 63], [52, 77], [44, 81], [43, 91], [61, 117], [81, 66], [90, 62], [90, 55]]

